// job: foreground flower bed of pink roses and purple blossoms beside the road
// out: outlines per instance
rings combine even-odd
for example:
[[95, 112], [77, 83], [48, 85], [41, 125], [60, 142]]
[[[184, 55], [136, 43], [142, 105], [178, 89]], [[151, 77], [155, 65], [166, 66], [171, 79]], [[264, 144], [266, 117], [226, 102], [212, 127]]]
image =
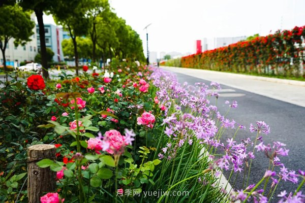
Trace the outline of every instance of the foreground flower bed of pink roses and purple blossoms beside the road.
[[[63, 72], [60, 81], [30, 76], [2, 89], [2, 201], [27, 201], [25, 149], [42, 143], [56, 147], [56, 161], [37, 164], [56, 172], [57, 191], [43, 194], [41, 202], [267, 202], [278, 194], [281, 202], [304, 200], [304, 172], [280, 162], [288, 155], [284, 144], [262, 142], [269, 126], [251, 124], [256, 137], [240, 141], [236, 133], [245, 127], [210, 104], [219, 84], [180, 85], [170, 73], [132, 65], [112, 64], [92, 75], [86, 70], [76, 78]], [[236, 101], [227, 104], [237, 108]], [[222, 141], [227, 128], [235, 136]], [[271, 167], [251, 185], [256, 151], [268, 155]], [[230, 178], [245, 172], [241, 190], [220, 185], [224, 170]], [[281, 180], [298, 179], [295, 192], [276, 191]]]

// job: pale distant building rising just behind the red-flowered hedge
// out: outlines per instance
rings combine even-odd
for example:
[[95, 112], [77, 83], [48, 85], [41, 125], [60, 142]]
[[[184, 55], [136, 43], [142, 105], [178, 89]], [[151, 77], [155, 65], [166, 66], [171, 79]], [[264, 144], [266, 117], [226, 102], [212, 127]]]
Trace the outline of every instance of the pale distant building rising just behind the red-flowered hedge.
[[[212, 50], [219, 47], [225, 47], [234, 44], [241, 40], [246, 40], [247, 36], [242, 37], [228, 37], [228, 38], [203, 38], [202, 51]], [[196, 50], [197, 51], [197, 50]]]

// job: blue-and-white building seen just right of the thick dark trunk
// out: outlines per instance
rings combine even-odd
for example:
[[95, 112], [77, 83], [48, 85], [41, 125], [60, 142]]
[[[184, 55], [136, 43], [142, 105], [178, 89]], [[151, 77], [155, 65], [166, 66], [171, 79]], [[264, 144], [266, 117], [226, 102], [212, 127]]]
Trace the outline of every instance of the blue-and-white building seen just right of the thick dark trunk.
[[[37, 32], [37, 45], [40, 51], [40, 37], [39, 37], [39, 27], [36, 25]], [[46, 47], [50, 48], [54, 52], [53, 61], [59, 62], [64, 61], [64, 54], [62, 49], [63, 42], [63, 28], [57, 27], [53, 24], [45, 24], [45, 40]]]

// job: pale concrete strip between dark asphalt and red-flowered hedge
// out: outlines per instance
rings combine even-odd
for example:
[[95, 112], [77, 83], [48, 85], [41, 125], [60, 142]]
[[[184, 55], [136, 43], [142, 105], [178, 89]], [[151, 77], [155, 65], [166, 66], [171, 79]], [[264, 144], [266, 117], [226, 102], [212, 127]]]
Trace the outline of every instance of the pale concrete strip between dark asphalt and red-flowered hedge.
[[186, 69], [182, 67], [162, 66], [161, 68], [203, 80], [215, 81], [223, 85], [305, 107], [305, 82], [302, 81], [247, 76], [199, 69]]

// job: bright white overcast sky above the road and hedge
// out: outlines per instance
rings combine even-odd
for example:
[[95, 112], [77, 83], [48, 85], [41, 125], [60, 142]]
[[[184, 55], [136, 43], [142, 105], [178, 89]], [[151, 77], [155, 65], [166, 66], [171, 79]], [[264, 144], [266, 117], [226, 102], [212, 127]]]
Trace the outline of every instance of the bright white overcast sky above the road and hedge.
[[[304, 0], [109, 0], [149, 51], [194, 53], [203, 38], [268, 35], [305, 25]], [[48, 21], [52, 21], [48, 17]], [[145, 54], [146, 55], [146, 54]]]

